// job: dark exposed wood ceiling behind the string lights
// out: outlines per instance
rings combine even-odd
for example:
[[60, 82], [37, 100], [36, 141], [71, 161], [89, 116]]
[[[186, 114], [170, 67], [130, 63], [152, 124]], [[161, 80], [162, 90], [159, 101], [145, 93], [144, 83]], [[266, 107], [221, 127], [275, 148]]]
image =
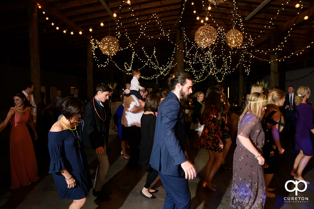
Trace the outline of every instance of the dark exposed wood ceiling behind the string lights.
[[[109, 5], [110, 10], [117, 14], [117, 19], [120, 21], [119, 23], [123, 24], [122, 27], [110, 17], [108, 11], [98, 0], [35, 1], [42, 5], [42, 8], [38, 9], [40, 58], [42, 62], [46, 64], [63, 65], [64, 68], [68, 69], [75, 69], [76, 67], [81, 69], [86, 68], [87, 39], [93, 37], [101, 41], [102, 38], [109, 35], [109, 25], [110, 35], [118, 38], [116, 33], [120, 32], [121, 36], [118, 38], [118, 41], [121, 48], [127, 47], [130, 39], [135, 43], [134, 48], [143, 60], [146, 58], [141, 50], [142, 47], [144, 47], [146, 52], [150, 55], [153, 49], [156, 48], [159, 63], [165, 64], [174, 50], [174, 44], [172, 44], [171, 41], [175, 43], [176, 27], [174, 29], [172, 28], [181, 14], [183, 3], [186, 3], [186, 5], [180, 20], [182, 21], [181, 23], [185, 34], [191, 41], [194, 41], [196, 30], [204, 25], [201, 24], [200, 20], [196, 20], [197, 15], [193, 13], [194, 8], [201, 18], [205, 17], [205, 7], [200, 0], [194, 0], [194, 5], [191, 5], [192, 1], [185, 2], [184, 0], [131, 0], [130, 5], [128, 5], [126, 1], [121, 0], [105, 1], [105, 3]], [[303, 0], [302, 3], [300, 3], [303, 5], [301, 6], [302, 8], [295, 8], [295, 4], [300, 1], [271, 0], [248, 21], [245, 21], [244, 18], [263, 1], [264, 0], [235, 0], [237, 8], [235, 12], [242, 17], [244, 23], [244, 31], [241, 32], [251, 35], [254, 39], [254, 46], [249, 49], [252, 54], [261, 59], [270, 60], [270, 53], [259, 53], [255, 52], [255, 50], [271, 49], [270, 38], [272, 35], [276, 35], [279, 42], [278, 44], [280, 44], [288, 35], [290, 28], [292, 28], [290, 36], [287, 38], [282, 50], [278, 51], [278, 58], [291, 55], [314, 41], [314, 18], [312, 18], [314, 13], [313, 1]], [[208, 1], [206, 1], [206, 4], [208, 7]], [[284, 5], [284, 10], [281, 10], [279, 15], [274, 19], [278, 10], [282, 8], [282, 4], [286, 4]], [[217, 21], [218, 25], [224, 29], [224, 32], [226, 33], [232, 29], [234, 25], [233, 0], [228, 0], [216, 7], [214, 5], [211, 6], [210, 14], [212, 18]], [[29, 56], [27, 7], [28, 3], [26, 0], [0, 2], [0, 33], [2, 40], [4, 40], [2, 44], [3, 47], [0, 50], [2, 55], [15, 55], [14, 59], [22, 60]], [[43, 11], [45, 14], [42, 13]], [[300, 14], [298, 14], [299, 12]], [[139, 37], [142, 31], [140, 29], [144, 26], [146, 27], [145, 32], [149, 34], [149, 36], [157, 36], [161, 33], [160, 25], [157, 24], [156, 18], [150, 19], [154, 14], [156, 14], [161, 21], [161, 28], [165, 32], [172, 30], [166, 37], [161, 36], [160, 38], [150, 39], [144, 35]], [[307, 20], [303, 19], [305, 15], [309, 17]], [[49, 19], [46, 20], [46, 17]], [[151, 22], [147, 24], [149, 20], [151, 20]], [[269, 24], [271, 20], [272, 23]], [[55, 24], [54, 26], [51, 25], [52, 22]], [[100, 22], [103, 22], [103, 27], [100, 25]], [[211, 26], [216, 29], [218, 28], [210, 17], [207, 24], [211, 24]], [[56, 30], [56, 25], [60, 27], [59, 30]], [[141, 27], [141, 25], [143, 26]], [[267, 27], [265, 28], [266, 25]], [[92, 32], [88, 31], [90, 28], [92, 28]], [[238, 25], [236, 25], [235, 28], [240, 29]], [[68, 30], [66, 34], [63, 33], [64, 29]], [[82, 35], [78, 34], [81, 29], [83, 30]], [[74, 35], [70, 34], [71, 31], [74, 31]], [[125, 35], [125, 32], [127, 32], [129, 38]], [[225, 55], [222, 50], [218, 50], [221, 48], [226, 49], [226, 51], [231, 50], [233, 52], [231, 68], [234, 68], [239, 61], [239, 50], [231, 49], [225, 43], [219, 43], [218, 45], [219, 47], [214, 50], [214, 54]], [[299, 53], [298, 55], [291, 56], [291, 58], [283, 61], [285, 63], [284, 65], [291, 65], [301, 61], [310, 61], [314, 65], [313, 47], [306, 48], [302, 54]], [[103, 55], [99, 49], [97, 50], [97, 58], [100, 64], [102, 64], [102, 61], [107, 60], [107, 56]], [[130, 47], [118, 51], [118, 53], [114, 55], [115, 62], [120, 65], [120, 67], [123, 67], [125, 61], [130, 63], [132, 52], [133, 50]], [[137, 60], [133, 65], [135, 68], [140, 68], [143, 64]], [[261, 62], [256, 58], [251, 58], [251, 72], [265, 67], [269, 68], [269, 62]], [[103, 70], [103, 68], [97, 68], [96, 62], [94, 61], [94, 71], [103, 72]], [[148, 71], [151, 70], [152, 69], [148, 67], [143, 69], [143, 71], [147, 71], [148, 74]]]

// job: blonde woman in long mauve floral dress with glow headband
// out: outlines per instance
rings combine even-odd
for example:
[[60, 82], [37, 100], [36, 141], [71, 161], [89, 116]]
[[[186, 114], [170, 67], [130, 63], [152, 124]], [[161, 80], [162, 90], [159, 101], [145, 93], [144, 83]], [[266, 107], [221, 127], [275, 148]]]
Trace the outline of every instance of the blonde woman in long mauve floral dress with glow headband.
[[230, 206], [233, 208], [264, 207], [266, 187], [262, 156], [265, 133], [261, 119], [264, 116], [267, 97], [262, 93], [251, 93], [238, 122], [237, 147], [233, 157], [233, 182]]

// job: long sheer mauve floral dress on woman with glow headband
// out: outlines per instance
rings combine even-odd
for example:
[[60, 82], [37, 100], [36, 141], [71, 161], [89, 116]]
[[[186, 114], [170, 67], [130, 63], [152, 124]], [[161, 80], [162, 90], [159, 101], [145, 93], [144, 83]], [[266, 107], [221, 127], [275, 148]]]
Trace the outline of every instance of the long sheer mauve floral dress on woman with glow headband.
[[[263, 154], [265, 133], [256, 115], [246, 113], [242, 122], [238, 122], [238, 135], [250, 139], [254, 147]], [[260, 209], [264, 207], [266, 200], [263, 165], [258, 164], [254, 154], [241, 144], [239, 137], [234, 150], [230, 195], [230, 206], [237, 209]]]

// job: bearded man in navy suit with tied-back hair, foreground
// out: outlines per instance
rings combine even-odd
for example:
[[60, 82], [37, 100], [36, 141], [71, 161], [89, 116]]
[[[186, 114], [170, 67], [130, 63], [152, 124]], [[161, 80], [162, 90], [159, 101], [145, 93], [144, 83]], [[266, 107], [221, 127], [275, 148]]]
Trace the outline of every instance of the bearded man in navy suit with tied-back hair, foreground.
[[185, 119], [180, 100], [192, 93], [193, 81], [189, 74], [177, 73], [168, 85], [170, 93], [158, 108], [150, 164], [158, 170], [166, 189], [163, 208], [190, 208], [187, 178], [194, 179], [196, 169], [185, 156]]

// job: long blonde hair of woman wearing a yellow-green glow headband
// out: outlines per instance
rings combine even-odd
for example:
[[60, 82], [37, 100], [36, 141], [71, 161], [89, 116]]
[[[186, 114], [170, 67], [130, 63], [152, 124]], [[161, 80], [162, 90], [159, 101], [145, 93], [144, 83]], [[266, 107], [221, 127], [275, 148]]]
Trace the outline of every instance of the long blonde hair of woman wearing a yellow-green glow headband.
[[[250, 94], [248, 104], [246, 105], [245, 109], [243, 110], [242, 115], [240, 116], [239, 120], [242, 122], [242, 119], [245, 117], [245, 114], [247, 112], [250, 112], [262, 120], [262, 118], [265, 115], [265, 112], [262, 113], [263, 106], [266, 106], [267, 104], [267, 97], [266, 95], [258, 92], [253, 92]], [[264, 102], [262, 102], [264, 101]]]

